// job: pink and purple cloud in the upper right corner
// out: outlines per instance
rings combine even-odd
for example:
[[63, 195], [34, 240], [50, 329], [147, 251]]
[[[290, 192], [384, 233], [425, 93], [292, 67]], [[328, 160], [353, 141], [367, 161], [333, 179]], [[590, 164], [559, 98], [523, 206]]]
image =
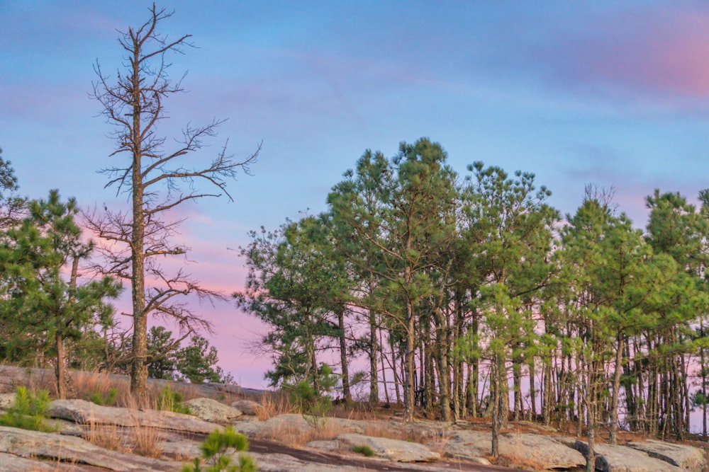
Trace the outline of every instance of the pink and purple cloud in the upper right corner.
[[647, 5], [552, 26], [520, 59], [547, 80], [609, 98], [708, 98], [709, 13]]

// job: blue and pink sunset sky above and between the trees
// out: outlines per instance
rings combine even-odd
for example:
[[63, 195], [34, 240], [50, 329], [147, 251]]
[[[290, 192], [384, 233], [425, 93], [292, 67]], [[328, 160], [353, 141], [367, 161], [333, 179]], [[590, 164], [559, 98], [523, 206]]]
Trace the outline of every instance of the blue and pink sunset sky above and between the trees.
[[[169, 57], [188, 93], [165, 103], [164, 136], [226, 119], [201, 151], [235, 159], [262, 143], [227, 198], [182, 207], [179, 261], [206, 287], [245, 283], [248, 231], [326, 209], [366, 149], [440, 142], [461, 175], [474, 161], [535, 173], [574, 213], [588, 183], [615, 189], [642, 228], [655, 188], [696, 202], [709, 188], [709, 4], [700, 1], [170, 1], [160, 25], [196, 47]], [[21, 195], [126, 205], [104, 188], [111, 127], [91, 100], [94, 66], [122, 70], [119, 32], [149, 1], [0, 0], [0, 148]], [[113, 160], [112, 160], [113, 159]], [[220, 366], [263, 387], [264, 328], [230, 303], [195, 308]]]

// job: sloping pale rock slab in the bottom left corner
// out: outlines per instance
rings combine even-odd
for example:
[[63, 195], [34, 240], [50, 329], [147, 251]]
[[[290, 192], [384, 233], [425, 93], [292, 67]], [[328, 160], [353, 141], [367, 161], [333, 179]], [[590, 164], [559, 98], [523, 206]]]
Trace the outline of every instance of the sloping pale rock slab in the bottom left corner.
[[[182, 464], [110, 451], [73, 436], [0, 426], [0, 453], [42, 457], [107, 468], [110, 471], [179, 471]], [[12, 470], [12, 469], [10, 469]], [[25, 470], [25, 469], [15, 469]], [[27, 470], [32, 470], [27, 469]]]

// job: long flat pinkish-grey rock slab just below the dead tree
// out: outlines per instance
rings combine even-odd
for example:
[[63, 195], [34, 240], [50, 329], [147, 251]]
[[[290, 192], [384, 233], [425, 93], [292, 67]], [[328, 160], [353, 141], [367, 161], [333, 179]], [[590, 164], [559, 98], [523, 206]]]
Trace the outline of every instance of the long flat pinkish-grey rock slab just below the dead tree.
[[52, 418], [61, 418], [82, 425], [116, 425], [123, 427], [155, 427], [162, 430], [197, 432], [208, 434], [215, 430], [212, 423], [198, 420], [191, 415], [161, 410], [135, 410], [95, 405], [84, 400], [55, 400], [50, 402], [47, 413]]

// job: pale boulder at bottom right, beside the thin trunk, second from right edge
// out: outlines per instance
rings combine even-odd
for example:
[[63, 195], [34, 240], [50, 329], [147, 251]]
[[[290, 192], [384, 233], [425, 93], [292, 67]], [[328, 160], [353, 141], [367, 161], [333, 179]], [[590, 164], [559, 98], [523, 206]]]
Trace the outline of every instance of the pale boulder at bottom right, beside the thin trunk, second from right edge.
[[[574, 449], [588, 456], [588, 443], [574, 442]], [[624, 446], [596, 444], [596, 470], [601, 472], [681, 472], [683, 469]]]

